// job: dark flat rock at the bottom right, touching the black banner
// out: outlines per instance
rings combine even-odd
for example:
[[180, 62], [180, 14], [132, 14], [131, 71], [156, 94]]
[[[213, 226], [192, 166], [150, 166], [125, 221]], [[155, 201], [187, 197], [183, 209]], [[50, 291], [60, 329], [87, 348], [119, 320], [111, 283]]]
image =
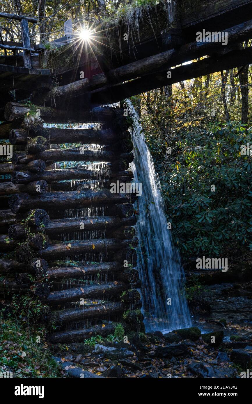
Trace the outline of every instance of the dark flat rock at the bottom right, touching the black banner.
[[234, 369], [231, 368], [217, 368], [216, 366], [212, 366], [205, 362], [192, 362], [187, 366], [187, 370], [191, 372], [193, 375], [203, 378], [227, 378], [234, 376]]

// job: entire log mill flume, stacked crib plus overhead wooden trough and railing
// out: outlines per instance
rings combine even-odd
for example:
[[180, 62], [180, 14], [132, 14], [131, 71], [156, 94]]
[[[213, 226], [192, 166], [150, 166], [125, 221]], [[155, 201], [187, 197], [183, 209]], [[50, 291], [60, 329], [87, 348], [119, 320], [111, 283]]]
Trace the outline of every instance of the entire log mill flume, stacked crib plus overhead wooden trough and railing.
[[[0, 13], [22, 31], [21, 43], [0, 44], [14, 55], [0, 65], [0, 139], [13, 151], [0, 162], [0, 295], [46, 303], [53, 343], [112, 334], [118, 322], [144, 329], [135, 312], [136, 195], [110, 192], [111, 182], [133, 180], [131, 119], [123, 104], [108, 104], [252, 61], [241, 45], [252, 37], [251, 0], [191, 3], [143, 6], [133, 25], [122, 17], [94, 27], [97, 50], [73, 41], [57, 53], [66, 41], [55, 41], [47, 58], [48, 46], [30, 43], [36, 19]], [[197, 41], [203, 29], [209, 42]], [[222, 32], [226, 46], [216, 40]]]

